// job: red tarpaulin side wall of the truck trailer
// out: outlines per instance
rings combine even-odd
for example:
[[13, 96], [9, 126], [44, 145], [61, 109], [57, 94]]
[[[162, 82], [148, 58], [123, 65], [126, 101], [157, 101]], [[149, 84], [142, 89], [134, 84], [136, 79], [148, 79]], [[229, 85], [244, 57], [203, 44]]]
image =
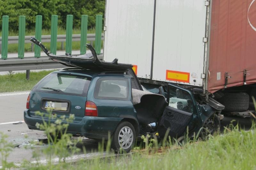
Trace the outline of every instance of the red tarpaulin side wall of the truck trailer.
[[211, 1], [211, 37], [207, 90], [256, 83], [256, 1]]

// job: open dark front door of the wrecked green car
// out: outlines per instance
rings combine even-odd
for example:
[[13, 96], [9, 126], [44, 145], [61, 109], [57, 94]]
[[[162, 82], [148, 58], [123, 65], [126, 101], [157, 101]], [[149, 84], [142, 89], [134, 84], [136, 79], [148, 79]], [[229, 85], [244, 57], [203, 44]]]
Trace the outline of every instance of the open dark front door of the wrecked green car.
[[189, 90], [172, 84], [168, 84], [166, 101], [168, 105], [159, 123], [159, 135], [164, 137], [169, 128], [168, 136], [178, 138], [184, 135], [197, 112], [196, 101]]

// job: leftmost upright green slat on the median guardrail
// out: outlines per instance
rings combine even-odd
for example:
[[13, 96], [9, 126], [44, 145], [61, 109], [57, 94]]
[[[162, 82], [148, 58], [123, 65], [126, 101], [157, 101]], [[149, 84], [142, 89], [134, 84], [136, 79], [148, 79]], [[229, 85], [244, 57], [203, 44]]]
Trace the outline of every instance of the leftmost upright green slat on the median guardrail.
[[7, 59], [9, 35], [9, 16], [4, 15], [2, 21], [2, 59]]

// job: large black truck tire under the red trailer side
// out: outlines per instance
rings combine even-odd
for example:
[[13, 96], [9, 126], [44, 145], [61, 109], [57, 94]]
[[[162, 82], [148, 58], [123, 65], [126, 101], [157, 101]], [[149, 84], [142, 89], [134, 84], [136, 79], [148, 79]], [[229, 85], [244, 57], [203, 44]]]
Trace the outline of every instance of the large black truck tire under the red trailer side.
[[224, 96], [217, 99], [225, 106], [224, 111], [242, 112], [249, 108], [249, 95], [245, 92], [224, 93]]

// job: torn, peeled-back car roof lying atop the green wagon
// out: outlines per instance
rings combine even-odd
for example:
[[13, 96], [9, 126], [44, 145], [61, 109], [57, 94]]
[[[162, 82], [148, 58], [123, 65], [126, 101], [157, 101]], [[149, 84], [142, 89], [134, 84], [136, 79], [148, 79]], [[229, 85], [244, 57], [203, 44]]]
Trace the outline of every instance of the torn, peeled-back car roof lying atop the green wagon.
[[127, 69], [132, 68], [131, 64], [117, 63], [118, 61], [117, 58], [115, 58], [112, 62], [101, 61], [97, 57], [97, 54], [91, 44], [86, 44], [86, 47], [89, 50], [91, 50], [91, 53], [79, 55], [79, 56], [71, 56], [69, 54], [66, 54], [65, 56], [59, 56], [59, 55], [52, 54], [36, 38], [31, 37], [30, 41], [38, 45], [50, 59], [57, 61], [60, 64], [63, 64], [64, 66], [77, 67], [82, 69], [91, 69], [91, 70], [96, 69], [96, 70], [115, 70], [115, 71], [125, 71]]

